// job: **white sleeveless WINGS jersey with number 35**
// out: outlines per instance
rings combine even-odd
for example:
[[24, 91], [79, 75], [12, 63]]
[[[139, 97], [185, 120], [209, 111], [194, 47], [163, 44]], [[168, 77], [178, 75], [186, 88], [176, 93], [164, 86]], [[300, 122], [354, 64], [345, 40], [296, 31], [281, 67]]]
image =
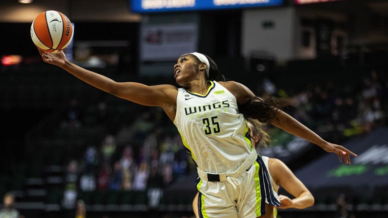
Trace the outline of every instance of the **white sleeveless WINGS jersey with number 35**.
[[174, 124], [201, 170], [230, 173], [252, 150], [248, 125], [233, 94], [215, 81], [210, 83], [205, 95], [178, 89]]

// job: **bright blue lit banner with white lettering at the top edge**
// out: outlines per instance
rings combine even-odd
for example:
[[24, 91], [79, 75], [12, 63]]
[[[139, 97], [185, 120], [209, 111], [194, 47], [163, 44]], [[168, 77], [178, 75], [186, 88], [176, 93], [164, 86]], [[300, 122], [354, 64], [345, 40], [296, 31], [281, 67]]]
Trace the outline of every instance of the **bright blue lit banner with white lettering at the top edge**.
[[132, 0], [133, 13], [202, 11], [280, 6], [283, 0]]

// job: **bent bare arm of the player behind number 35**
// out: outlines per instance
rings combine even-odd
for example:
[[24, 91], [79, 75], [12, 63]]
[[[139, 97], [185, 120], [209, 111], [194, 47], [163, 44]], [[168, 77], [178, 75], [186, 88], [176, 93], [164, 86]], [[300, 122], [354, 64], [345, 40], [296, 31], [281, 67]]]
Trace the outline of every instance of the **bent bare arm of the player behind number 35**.
[[276, 184], [281, 185], [295, 198], [279, 195], [281, 209], [304, 209], [314, 205], [314, 197], [306, 186], [294, 175], [294, 173], [279, 159], [269, 159], [269, 171]]

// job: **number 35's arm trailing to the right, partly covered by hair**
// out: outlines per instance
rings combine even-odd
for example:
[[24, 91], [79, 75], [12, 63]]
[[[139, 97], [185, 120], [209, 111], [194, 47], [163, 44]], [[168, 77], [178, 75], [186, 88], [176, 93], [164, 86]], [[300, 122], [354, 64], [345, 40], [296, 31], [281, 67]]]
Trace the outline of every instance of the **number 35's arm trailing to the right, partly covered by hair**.
[[[245, 85], [241, 83], [237, 83], [234, 81], [228, 81], [221, 83], [225, 88], [227, 88], [237, 100], [238, 105], [243, 105], [247, 103], [250, 99], [255, 97], [255, 94]], [[273, 110], [278, 110], [277, 108], [273, 108]], [[304, 138], [321, 148], [323, 148], [327, 152], [336, 153], [340, 162], [342, 162], [342, 157], [344, 156], [345, 162], [350, 164], [350, 155], [356, 157], [357, 155], [352, 151], [346, 149], [345, 147], [337, 144], [333, 144], [323, 140], [320, 136], [318, 136], [315, 132], [307, 128], [305, 125], [301, 124], [299, 121], [284, 113], [281, 110], [278, 110], [278, 113], [275, 119], [272, 122], [276, 127], [301, 138]]]

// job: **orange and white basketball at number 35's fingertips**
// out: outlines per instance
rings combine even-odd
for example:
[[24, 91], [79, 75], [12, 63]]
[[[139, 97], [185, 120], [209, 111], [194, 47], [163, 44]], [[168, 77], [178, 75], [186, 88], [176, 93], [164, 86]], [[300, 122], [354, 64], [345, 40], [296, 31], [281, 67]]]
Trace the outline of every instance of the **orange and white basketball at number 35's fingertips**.
[[58, 11], [42, 12], [31, 24], [32, 41], [45, 52], [58, 52], [66, 48], [73, 33], [69, 18]]

